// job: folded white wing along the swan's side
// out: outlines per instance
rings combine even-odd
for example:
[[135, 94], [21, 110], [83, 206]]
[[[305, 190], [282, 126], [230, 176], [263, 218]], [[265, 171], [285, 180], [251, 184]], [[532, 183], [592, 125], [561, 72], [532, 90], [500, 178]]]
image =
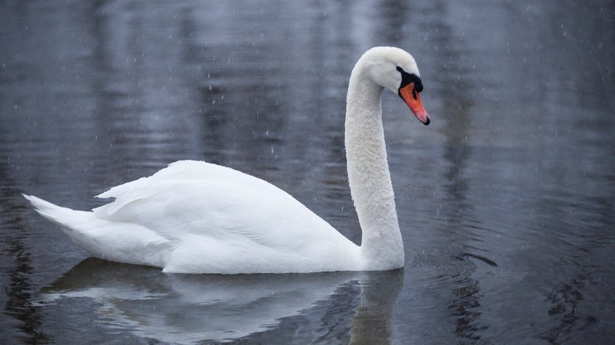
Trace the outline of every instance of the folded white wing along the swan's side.
[[186, 255], [212, 249], [222, 260], [239, 252], [258, 257], [277, 250], [284, 258], [288, 252], [300, 257], [356, 247], [283, 190], [210, 163], [179, 161], [100, 196], [116, 201], [94, 209], [98, 217], [137, 223], [182, 241]]

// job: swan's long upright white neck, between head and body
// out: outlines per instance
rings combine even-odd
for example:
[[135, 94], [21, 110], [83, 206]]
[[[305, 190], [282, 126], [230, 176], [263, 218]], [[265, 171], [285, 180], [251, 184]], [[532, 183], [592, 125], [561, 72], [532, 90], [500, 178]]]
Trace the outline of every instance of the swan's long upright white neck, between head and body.
[[383, 87], [367, 76], [363, 64], [352, 71], [346, 100], [346, 161], [352, 200], [362, 230], [365, 270], [403, 266], [402, 235], [382, 123]]

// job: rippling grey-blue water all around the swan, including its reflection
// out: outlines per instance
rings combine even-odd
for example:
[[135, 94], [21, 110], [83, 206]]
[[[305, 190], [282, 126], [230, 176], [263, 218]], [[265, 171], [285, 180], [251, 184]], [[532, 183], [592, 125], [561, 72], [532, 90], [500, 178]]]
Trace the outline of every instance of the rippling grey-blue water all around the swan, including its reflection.
[[[0, 2], [0, 343], [608, 344], [615, 5]], [[87, 258], [20, 193], [91, 209], [175, 160], [276, 184], [352, 241], [347, 80], [412, 53], [383, 112], [406, 252], [384, 273], [162, 274]]]

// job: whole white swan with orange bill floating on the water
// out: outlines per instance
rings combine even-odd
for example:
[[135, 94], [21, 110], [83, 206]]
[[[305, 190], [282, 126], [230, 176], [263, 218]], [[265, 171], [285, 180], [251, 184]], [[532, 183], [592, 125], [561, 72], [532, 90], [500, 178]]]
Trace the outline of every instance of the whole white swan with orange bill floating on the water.
[[384, 88], [429, 124], [414, 58], [394, 47], [365, 52], [352, 69], [345, 132], [361, 246], [274, 185], [202, 161], [177, 161], [153, 176], [113, 187], [97, 197], [116, 200], [91, 212], [24, 196], [93, 257], [161, 267], [167, 273], [400, 268], [402, 235], [381, 120]]

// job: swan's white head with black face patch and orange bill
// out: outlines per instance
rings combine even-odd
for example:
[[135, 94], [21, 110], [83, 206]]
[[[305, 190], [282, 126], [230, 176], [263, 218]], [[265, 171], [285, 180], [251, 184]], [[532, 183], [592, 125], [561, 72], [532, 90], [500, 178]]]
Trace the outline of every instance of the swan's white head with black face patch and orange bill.
[[419, 96], [423, 91], [421, 74], [412, 55], [400, 48], [375, 47], [365, 52], [361, 60], [375, 83], [399, 95], [416, 118], [429, 125], [429, 115]]

